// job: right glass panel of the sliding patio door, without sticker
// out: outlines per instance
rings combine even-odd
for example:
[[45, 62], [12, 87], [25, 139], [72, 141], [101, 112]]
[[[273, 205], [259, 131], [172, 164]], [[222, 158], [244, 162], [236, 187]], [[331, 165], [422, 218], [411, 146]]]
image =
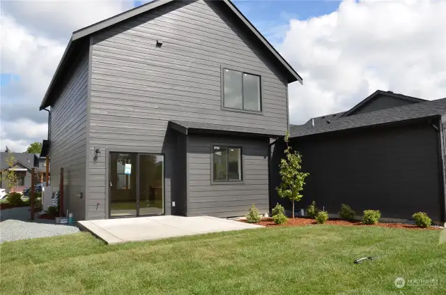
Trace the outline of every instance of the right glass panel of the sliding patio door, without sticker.
[[139, 214], [164, 213], [164, 156], [139, 155]]

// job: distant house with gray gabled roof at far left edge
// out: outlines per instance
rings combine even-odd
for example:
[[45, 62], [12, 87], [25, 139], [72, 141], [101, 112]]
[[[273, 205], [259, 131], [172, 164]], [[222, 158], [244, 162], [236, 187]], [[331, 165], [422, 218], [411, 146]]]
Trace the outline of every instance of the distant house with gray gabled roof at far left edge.
[[[15, 158], [14, 165], [8, 165], [10, 157]], [[31, 186], [31, 168], [38, 166], [38, 157], [34, 153], [0, 153], [0, 188], [9, 191], [8, 181], [4, 179], [4, 173], [13, 170], [17, 174], [17, 186], [13, 188], [15, 192], [22, 192], [24, 188]]]

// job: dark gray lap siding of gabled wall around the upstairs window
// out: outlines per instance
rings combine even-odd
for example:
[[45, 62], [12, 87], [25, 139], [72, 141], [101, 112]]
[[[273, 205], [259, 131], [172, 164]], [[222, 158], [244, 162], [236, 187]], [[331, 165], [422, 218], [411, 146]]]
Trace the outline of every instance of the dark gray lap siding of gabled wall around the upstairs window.
[[[176, 169], [169, 120], [287, 130], [284, 77], [221, 9], [217, 1], [172, 2], [92, 37], [89, 218], [105, 218], [107, 206], [105, 157], [93, 161], [94, 147], [166, 153], [168, 172]], [[261, 74], [263, 114], [222, 110], [222, 65]], [[167, 173], [167, 214], [170, 181]]]

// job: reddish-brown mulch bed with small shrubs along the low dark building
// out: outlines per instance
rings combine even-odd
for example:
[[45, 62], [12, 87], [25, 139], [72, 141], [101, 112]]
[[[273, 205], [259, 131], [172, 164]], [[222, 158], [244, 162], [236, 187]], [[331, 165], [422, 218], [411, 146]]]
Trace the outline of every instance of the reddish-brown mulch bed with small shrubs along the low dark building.
[[[240, 222], [246, 222], [246, 220], [238, 220]], [[416, 225], [408, 225], [405, 223], [387, 223], [387, 222], [378, 222], [376, 225], [364, 225], [360, 221], [347, 221], [347, 220], [339, 220], [339, 219], [331, 219], [325, 222], [326, 225], [344, 225], [344, 226], [360, 226], [360, 227], [391, 227], [391, 228], [404, 228], [404, 229], [442, 229], [440, 227], [426, 227], [421, 228]], [[302, 227], [306, 225], [317, 225], [316, 220], [312, 218], [289, 218], [286, 224], [284, 225], [276, 225], [272, 218], [262, 218], [261, 221], [254, 223], [254, 225], [263, 225], [264, 227]]]

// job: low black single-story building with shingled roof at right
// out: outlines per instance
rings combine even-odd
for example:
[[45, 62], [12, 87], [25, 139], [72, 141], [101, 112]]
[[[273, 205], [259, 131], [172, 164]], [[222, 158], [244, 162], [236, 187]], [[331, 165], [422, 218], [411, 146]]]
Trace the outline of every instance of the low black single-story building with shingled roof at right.
[[[311, 175], [296, 208], [313, 200], [337, 214], [341, 204], [358, 215], [378, 209], [384, 218], [411, 218], [417, 211], [445, 222], [446, 98], [420, 100], [376, 91], [338, 114], [290, 126], [291, 146], [302, 154]], [[442, 117], [443, 116], [443, 117]], [[274, 146], [272, 167], [282, 158], [282, 139]], [[271, 206], [277, 197], [272, 174]]]

